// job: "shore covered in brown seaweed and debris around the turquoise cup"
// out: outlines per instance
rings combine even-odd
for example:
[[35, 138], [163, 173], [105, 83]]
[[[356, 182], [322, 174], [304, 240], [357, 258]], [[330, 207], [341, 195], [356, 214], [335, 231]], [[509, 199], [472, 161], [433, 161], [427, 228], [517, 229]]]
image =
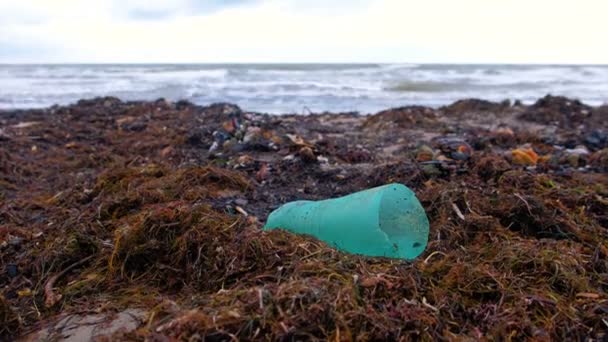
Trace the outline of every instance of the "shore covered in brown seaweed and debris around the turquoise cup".
[[[608, 107], [245, 110], [0, 112], [0, 340], [608, 336]], [[429, 216], [414, 262], [260, 230], [389, 182]]]

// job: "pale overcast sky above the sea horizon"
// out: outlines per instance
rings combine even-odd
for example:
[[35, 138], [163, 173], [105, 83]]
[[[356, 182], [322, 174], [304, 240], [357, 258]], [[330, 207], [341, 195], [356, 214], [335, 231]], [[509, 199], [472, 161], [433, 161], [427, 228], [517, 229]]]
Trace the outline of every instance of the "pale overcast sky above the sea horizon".
[[0, 0], [0, 62], [608, 63], [606, 0]]

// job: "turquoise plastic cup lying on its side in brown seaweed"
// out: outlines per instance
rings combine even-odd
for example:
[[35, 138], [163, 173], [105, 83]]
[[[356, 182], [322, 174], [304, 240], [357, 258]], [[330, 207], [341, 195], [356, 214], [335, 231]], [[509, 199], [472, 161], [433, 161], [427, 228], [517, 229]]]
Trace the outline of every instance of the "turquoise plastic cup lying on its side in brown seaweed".
[[323, 201], [296, 201], [273, 211], [264, 230], [285, 229], [314, 236], [345, 252], [411, 260], [429, 237], [429, 220], [403, 184]]

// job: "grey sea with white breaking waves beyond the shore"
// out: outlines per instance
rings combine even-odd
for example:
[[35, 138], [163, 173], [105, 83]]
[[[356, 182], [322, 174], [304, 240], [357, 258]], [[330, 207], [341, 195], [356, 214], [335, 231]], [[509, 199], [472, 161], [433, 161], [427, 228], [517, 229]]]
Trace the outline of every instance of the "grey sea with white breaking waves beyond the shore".
[[608, 65], [73, 64], [0, 65], [0, 109], [79, 99], [230, 102], [264, 113], [374, 113], [465, 98], [532, 103], [546, 95], [608, 103]]

